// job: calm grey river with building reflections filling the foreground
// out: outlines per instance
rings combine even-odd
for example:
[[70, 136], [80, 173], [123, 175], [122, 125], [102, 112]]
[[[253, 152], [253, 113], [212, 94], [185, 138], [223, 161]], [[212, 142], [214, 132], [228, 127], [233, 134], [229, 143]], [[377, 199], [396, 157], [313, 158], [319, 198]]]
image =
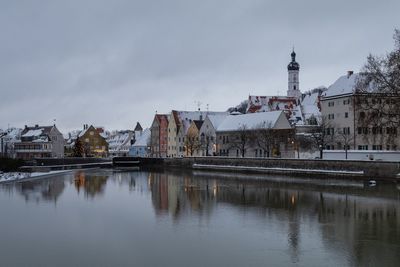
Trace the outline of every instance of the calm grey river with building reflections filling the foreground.
[[395, 185], [248, 177], [101, 170], [0, 185], [0, 266], [400, 266]]

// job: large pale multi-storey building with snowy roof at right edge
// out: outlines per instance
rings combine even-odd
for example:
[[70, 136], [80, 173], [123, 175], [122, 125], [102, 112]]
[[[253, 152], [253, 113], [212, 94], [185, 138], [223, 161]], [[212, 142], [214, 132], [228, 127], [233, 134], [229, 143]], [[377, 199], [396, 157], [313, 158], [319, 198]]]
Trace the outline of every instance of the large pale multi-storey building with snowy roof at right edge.
[[[400, 98], [371, 92], [358, 93], [361, 74], [349, 72], [333, 83], [321, 99], [321, 114], [332, 135], [327, 150], [388, 150], [400, 148], [399, 114], [391, 114]], [[397, 116], [397, 117], [396, 117]]]

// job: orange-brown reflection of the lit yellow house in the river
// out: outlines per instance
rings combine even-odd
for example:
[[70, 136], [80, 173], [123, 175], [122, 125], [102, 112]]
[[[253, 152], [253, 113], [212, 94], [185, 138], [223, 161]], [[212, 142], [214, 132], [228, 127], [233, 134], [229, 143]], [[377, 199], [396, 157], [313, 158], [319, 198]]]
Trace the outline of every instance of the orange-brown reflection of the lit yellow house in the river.
[[88, 175], [83, 171], [78, 171], [74, 176], [74, 184], [77, 192], [84, 190], [85, 196], [94, 197], [103, 194], [108, 176]]

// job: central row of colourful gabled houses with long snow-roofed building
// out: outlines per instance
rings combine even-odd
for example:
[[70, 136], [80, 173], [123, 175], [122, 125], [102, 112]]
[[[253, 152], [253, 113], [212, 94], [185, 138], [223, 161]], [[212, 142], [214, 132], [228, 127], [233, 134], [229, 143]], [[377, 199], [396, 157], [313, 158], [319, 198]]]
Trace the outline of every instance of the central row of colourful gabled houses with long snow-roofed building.
[[156, 114], [150, 156], [293, 157], [294, 128], [284, 111], [171, 111]]

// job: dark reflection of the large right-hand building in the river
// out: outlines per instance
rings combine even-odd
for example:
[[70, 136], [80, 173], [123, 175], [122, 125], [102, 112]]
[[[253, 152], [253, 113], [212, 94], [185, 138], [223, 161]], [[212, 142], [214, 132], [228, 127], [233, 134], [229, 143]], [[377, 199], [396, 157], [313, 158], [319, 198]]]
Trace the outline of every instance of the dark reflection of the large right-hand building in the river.
[[[316, 212], [324, 246], [351, 251], [348, 255], [356, 266], [393, 264], [385, 263], [388, 259], [400, 262], [398, 201], [320, 194], [319, 204]], [[382, 246], [388, 243], [394, 247]]]

